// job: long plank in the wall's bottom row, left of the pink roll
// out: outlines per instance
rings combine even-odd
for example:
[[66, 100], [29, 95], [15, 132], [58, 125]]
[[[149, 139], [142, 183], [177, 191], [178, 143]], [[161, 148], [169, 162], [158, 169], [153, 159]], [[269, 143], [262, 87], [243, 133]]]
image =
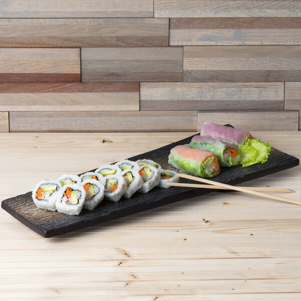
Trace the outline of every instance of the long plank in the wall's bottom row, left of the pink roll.
[[196, 131], [197, 111], [11, 112], [12, 132]]

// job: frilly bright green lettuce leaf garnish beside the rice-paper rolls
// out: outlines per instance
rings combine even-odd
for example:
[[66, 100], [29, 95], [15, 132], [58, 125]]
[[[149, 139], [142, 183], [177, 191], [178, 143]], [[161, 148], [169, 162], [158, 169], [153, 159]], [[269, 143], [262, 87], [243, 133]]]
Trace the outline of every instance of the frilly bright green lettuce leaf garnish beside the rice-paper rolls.
[[268, 142], [263, 143], [259, 139], [249, 139], [245, 145], [238, 146], [242, 167], [256, 163], [266, 162], [271, 151]]

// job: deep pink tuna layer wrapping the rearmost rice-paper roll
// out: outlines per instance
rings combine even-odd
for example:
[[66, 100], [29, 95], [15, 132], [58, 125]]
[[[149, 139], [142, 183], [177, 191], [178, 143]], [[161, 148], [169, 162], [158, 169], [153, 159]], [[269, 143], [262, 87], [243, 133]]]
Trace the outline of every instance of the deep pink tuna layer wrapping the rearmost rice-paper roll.
[[244, 143], [246, 130], [237, 129], [212, 122], [204, 122], [201, 128], [201, 135], [213, 137], [227, 142], [233, 142], [236, 146]]

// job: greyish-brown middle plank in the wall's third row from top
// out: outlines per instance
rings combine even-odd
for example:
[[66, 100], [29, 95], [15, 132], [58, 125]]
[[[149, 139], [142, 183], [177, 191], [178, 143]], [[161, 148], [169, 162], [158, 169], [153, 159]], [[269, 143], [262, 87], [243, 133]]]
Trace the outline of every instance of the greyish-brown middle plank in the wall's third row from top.
[[182, 81], [182, 47], [82, 48], [83, 82]]

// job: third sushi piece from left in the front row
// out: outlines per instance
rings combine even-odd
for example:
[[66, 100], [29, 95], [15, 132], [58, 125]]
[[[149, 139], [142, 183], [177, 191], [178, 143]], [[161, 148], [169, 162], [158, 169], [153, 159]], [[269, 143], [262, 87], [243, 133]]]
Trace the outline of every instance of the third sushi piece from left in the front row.
[[104, 186], [95, 179], [87, 179], [81, 185], [86, 192], [83, 208], [93, 210], [103, 200]]

